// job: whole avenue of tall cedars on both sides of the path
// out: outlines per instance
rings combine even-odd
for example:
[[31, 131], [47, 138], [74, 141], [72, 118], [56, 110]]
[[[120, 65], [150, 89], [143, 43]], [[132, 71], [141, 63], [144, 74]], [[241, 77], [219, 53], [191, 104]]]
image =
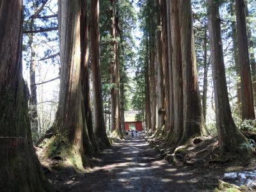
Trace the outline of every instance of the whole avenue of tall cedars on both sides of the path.
[[[51, 191], [33, 147], [45, 139], [45, 156], [83, 171], [89, 158], [111, 147], [109, 132], [124, 138], [129, 109], [141, 112], [138, 118], [152, 138], [179, 146], [211, 134], [207, 109], [212, 108], [220, 154], [250, 156], [237, 122], [255, 119], [255, 22], [250, 18], [255, 1], [140, 0], [138, 13], [134, 4], [0, 1], [3, 191]], [[136, 14], [142, 36], [135, 49]], [[38, 58], [40, 47], [43, 58]], [[45, 60], [57, 63], [60, 73], [38, 83], [36, 71]], [[22, 62], [29, 68], [29, 86]], [[228, 72], [226, 63], [231, 63]], [[51, 108], [56, 115], [43, 125], [48, 117], [40, 115], [38, 90], [53, 81], [60, 81], [58, 104]]]

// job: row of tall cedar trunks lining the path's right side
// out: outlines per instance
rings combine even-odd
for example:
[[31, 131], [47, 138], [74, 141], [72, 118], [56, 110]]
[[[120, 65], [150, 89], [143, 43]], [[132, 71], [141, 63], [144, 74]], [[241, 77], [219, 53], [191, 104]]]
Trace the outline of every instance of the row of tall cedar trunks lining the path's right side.
[[[147, 130], [152, 132], [155, 138], [164, 135], [165, 141], [177, 145], [185, 144], [196, 136], [209, 134], [205, 121], [209, 107], [207, 81], [211, 63], [220, 152], [250, 153], [250, 150], [241, 149], [243, 143], [248, 143], [248, 140], [232, 118], [221, 34], [221, 26], [225, 26], [221, 24], [221, 16], [230, 14], [231, 29], [225, 26], [225, 30], [236, 33], [232, 36], [233, 42], [230, 44], [234, 56], [237, 54], [237, 74], [234, 78], [237, 81], [239, 97], [237, 106], [241, 109], [238, 116], [241, 114], [242, 120], [253, 120], [255, 113], [252, 76], [255, 58], [253, 48], [250, 54], [249, 46], [250, 42], [253, 45], [253, 40], [248, 39], [247, 35], [250, 33], [252, 38], [250, 26], [246, 24], [247, 1], [147, 0], [140, 1], [139, 6], [140, 27], [143, 31], [140, 65], [143, 67], [141, 73], [145, 74]], [[195, 8], [193, 12], [193, 7], [198, 10]], [[220, 15], [220, 8], [224, 10], [223, 15]], [[155, 19], [152, 19], [152, 15]], [[196, 28], [193, 28], [193, 22], [196, 23]], [[200, 52], [203, 52], [203, 58], [198, 56]], [[199, 64], [196, 65], [196, 62]], [[204, 67], [202, 96], [197, 72], [200, 65]]]

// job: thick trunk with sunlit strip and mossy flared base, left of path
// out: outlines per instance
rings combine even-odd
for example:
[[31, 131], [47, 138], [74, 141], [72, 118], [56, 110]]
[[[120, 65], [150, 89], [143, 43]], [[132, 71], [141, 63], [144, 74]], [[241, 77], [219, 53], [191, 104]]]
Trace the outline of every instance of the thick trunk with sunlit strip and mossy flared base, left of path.
[[[88, 136], [81, 84], [81, 2], [58, 1], [60, 33], [60, 99], [54, 136], [49, 142], [50, 158], [61, 158], [63, 166], [83, 170], [93, 155]], [[84, 26], [85, 27], [85, 26]]]

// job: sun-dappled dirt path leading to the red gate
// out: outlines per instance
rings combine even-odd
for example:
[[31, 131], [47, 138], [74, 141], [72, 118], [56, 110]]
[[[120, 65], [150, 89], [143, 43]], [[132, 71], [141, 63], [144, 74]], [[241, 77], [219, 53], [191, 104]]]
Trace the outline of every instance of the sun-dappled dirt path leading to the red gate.
[[101, 160], [90, 173], [71, 176], [62, 182], [59, 190], [207, 191], [202, 189], [202, 174], [198, 170], [173, 168], [148, 146], [142, 136], [118, 141], [104, 151]]

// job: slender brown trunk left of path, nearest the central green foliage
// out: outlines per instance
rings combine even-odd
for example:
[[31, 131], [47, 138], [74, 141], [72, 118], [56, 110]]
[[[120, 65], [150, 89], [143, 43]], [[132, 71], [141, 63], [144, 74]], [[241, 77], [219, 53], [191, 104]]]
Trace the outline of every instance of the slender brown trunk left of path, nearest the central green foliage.
[[91, 2], [91, 46], [92, 46], [92, 82], [95, 111], [95, 134], [101, 147], [110, 147], [106, 134], [106, 125], [103, 115], [102, 82], [100, 76], [99, 50], [99, 0]]

